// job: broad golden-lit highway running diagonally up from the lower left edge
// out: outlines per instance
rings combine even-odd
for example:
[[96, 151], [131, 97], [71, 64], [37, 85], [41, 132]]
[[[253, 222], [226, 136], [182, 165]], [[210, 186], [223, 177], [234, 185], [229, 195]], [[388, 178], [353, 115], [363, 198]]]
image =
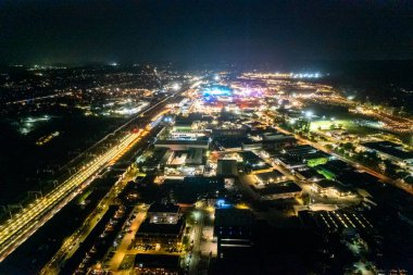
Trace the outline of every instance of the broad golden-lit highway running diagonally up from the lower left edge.
[[[143, 111], [140, 116], [162, 107], [161, 104], [174, 98], [178, 92], [163, 99]], [[151, 112], [151, 113], [152, 113]], [[32, 236], [39, 227], [66, 205], [74, 197], [92, 182], [95, 175], [113, 164], [120, 155], [130, 149], [148, 132], [126, 134], [116, 145], [103, 154], [87, 163], [80, 171], [68, 177], [51, 192], [24, 208], [20, 213], [0, 225], [0, 262], [2, 262], [21, 243]]]

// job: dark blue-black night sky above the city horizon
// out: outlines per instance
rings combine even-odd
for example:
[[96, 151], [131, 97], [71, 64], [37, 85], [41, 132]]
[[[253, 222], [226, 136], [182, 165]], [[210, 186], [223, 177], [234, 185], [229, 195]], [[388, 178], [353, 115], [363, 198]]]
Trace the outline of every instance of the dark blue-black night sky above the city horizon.
[[413, 1], [0, 0], [0, 63], [413, 59]]

